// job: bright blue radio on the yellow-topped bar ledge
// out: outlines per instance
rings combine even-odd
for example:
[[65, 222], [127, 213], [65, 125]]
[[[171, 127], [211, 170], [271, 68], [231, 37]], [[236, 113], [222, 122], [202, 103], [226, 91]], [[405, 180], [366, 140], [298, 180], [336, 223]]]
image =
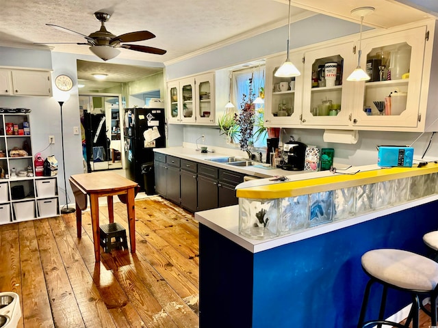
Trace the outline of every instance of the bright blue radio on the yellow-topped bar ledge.
[[380, 167], [412, 167], [412, 162], [412, 147], [378, 146], [377, 165]]

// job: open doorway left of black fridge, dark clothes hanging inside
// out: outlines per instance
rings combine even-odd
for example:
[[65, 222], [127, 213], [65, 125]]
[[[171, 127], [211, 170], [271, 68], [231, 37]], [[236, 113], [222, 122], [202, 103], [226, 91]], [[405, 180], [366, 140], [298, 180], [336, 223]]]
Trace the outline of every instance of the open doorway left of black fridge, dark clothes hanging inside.
[[121, 103], [120, 94], [79, 95], [84, 172], [123, 169]]

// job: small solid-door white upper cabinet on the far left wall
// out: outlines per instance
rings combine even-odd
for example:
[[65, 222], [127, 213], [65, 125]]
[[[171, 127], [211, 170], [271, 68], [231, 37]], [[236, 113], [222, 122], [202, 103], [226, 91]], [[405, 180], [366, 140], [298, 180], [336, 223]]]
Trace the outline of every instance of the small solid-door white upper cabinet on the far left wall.
[[51, 72], [1, 68], [0, 94], [8, 96], [51, 96]]

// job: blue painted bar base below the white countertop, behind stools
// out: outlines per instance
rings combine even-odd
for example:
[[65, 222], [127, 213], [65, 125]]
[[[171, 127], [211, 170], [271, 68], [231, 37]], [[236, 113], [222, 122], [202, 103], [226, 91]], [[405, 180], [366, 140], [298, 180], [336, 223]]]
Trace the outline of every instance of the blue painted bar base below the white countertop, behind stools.
[[[361, 256], [376, 248], [426, 255], [422, 236], [438, 230], [437, 213], [434, 201], [255, 254], [200, 223], [200, 326], [356, 327], [368, 281]], [[398, 291], [388, 299], [385, 317], [410, 303]]]

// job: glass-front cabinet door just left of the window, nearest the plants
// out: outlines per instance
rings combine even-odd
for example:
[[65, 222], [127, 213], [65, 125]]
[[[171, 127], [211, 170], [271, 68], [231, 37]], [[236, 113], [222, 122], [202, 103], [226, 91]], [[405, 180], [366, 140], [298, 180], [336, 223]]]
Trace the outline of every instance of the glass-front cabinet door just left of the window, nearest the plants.
[[214, 124], [214, 73], [195, 77], [196, 123]]

